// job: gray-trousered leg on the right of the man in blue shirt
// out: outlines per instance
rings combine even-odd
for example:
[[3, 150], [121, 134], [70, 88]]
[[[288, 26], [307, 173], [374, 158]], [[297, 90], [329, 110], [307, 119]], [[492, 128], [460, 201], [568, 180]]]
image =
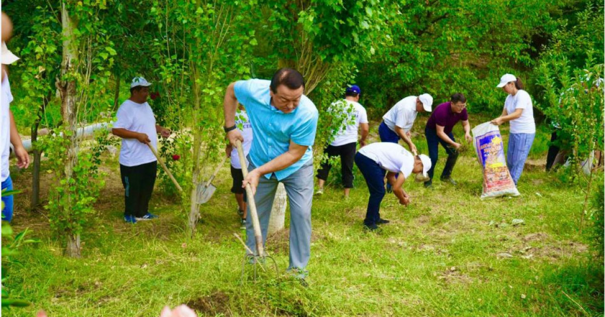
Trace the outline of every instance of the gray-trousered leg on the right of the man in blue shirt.
[[290, 264], [303, 271], [311, 256], [311, 206], [313, 202], [313, 159], [282, 180], [290, 203]]

